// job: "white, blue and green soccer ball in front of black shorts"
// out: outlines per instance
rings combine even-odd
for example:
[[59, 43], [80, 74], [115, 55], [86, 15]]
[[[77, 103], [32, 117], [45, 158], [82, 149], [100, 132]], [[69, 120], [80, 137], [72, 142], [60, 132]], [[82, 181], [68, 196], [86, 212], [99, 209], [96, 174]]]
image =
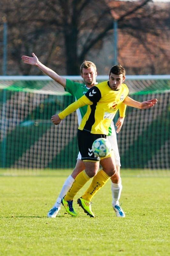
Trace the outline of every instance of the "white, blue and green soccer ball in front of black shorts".
[[95, 156], [105, 157], [108, 156], [111, 150], [110, 142], [105, 138], [94, 140], [92, 144], [92, 151]]

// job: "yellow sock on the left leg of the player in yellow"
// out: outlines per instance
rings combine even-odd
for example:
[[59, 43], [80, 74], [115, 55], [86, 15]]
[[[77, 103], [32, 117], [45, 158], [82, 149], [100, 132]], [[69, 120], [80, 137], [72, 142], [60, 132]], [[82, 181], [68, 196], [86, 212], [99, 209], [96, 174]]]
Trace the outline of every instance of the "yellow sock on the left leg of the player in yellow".
[[85, 185], [85, 183], [90, 179], [91, 178], [89, 178], [89, 176], [86, 174], [85, 170], [80, 172], [77, 175], [75, 181], [73, 182], [71, 188], [67, 192], [66, 196], [64, 197], [64, 200], [65, 201], [73, 200], [74, 196], [77, 194], [77, 192], [80, 190], [80, 188], [82, 188]]

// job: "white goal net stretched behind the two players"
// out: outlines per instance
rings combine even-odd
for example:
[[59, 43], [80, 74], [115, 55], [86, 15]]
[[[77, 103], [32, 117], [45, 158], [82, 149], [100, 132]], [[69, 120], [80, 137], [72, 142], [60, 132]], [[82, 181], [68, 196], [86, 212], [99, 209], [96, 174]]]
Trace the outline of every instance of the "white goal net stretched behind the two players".
[[[66, 77], [83, 82], [79, 76]], [[98, 76], [97, 81], [108, 80]], [[129, 96], [156, 106], [127, 107], [117, 135], [122, 168], [169, 169], [170, 76], [127, 76]], [[73, 168], [78, 155], [76, 112], [51, 123], [74, 98], [47, 76], [0, 77], [0, 167]], [[114, 122], [116, 122], [116, 115]]]

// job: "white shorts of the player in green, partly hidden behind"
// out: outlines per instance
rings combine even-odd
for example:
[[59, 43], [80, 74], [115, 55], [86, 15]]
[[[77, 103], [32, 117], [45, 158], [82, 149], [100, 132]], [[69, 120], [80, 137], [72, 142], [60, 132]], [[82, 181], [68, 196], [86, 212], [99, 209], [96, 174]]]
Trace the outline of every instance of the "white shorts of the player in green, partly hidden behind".
[[[117, 138], [116, 138], [116, 132], [115, 132], [115, 126], [112, 126], [112, 135], [111, 136], [107, 136], [107, 139], [109, 140], [114, 156], [115, 156], [115, 163], [116, 166], [121, 166], [121, 162], [120, 162], [120, 156], [119, 156], [119, 149], [118, 149], [118, 145], [117, 145]], [[81, 154], [80, 152], [78, 152], [78, 157], [77, 160], [81, 160]]]

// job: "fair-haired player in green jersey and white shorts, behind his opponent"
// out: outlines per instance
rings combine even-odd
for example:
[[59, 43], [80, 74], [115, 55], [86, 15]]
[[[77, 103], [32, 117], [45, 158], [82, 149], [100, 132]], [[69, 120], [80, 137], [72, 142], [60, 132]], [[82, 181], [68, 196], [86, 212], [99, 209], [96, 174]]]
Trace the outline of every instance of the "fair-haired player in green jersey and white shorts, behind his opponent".
[[[80, 67], [80, 73], [84, 80], [84, 84], [73, 82], [72, 80], [65, 79], [62, 76], [59, 76], [56, 74], [53, 70], [43, 65], [38, 58], [35, 56], [35, 54], [32, 54], [33, 57], [28, 56], [22, 56], [22, 60], [26, 64], [30, 64], [33, 66], [37, 66], [41, 71], [43, 71], [46, 75], [50, 76], [53, 80], [55, 80], [57, 83], [61, 84], [64, 87], [64, 90], [67, 92], [70, 92], [71, 95], [75, 97], [75, 100], [78, 100], [83, 96], [89, 88], [97, 84], [96, 82], [96, 66], [91, 61], [84, 61]], [[120, 109], [120, 117], [118, 118], [118, 121], [116, 123], [117, 126], [117, 133], [121, 130], [123, 121], [124, 121], [124, 114], [125, 114], [126, 107], [123, 106], [122, 109]], [[85, 115], [87, 111], [87, 106], [84, 106], [82, 108], [77, 109], [77, 115], [78, 115], [78, 124], [80, 125], [82, 117]], [[119, 206], [119, 199], [121, 196], [122, 191], [122, 180], [120, 177], [120, 156], [118, 151], [118, 145], [117, 145], [117, 139], [116, 139], [116, 133], [115, 133], [115, 126], [114, 123], [111, 123], [110, 129], [109, 129], [109, 141], [112, 145], [112, 149], [115, 156], [115, 162], [116, 162], [116, 174], [111, 178], [111, 190], [113, 195], [112, 200], [112, 206], [114, 211], [116, 212], [117, 217], [124, 217], [125, 214], [122, 210], [122, 208]], [[55, 218], [58, 212], [61, 208], [61, 199], [62, 197], [67, 193], [67, 191], [70, 189], [72, 183], [74, 182], [76, 176], [79, 172], [85, 169], [85, 166], [83, 164], [83, 161], [81, 160], [81, 154], [78, 153], [77, 158], [77, 164], [72, 172], [72, 174], [67, 178], [67, 180], [64, 182], [62, 190], [54, 204], [54, 206], [50, 209], [48, 212], [49, 218]], [[117, 209], [117, 208], [118, 209]]]

